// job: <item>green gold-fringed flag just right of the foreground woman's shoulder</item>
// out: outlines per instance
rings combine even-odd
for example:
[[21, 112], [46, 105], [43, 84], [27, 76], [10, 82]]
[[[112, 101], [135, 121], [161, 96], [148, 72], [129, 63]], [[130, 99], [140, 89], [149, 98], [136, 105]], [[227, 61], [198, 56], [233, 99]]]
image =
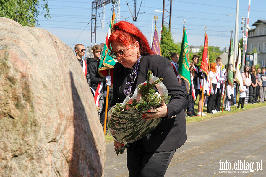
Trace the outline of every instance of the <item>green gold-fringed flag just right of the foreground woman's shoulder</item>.
[[189, 48], [188, 48], [188, 43], [187, 43], [186, 28], [184, 27], [183, 40], [182, 40], [181, 51], [179, 55], [178, 73], [179, 73], [179, 76], [185, 80], [187, 93], [189, 93], [190, 83], [191, 83], [189, 64], [188, 64], [188, 49]]

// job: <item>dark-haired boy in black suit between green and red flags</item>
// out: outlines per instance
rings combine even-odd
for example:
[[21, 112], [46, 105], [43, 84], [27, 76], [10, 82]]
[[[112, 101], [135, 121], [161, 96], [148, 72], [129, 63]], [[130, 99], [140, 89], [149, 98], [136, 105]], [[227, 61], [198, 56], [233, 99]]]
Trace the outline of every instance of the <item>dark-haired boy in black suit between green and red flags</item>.
[[[202, 72], [200, 72], [200, 69], [197, 66], [197, 64], [199, 63], [199, 56], [193, 55], [192, 61], [193, 61], [192, 63], [194, 64], [193, 84], [194, 84], [195, 96], [196, 96], [196, 100], [197, 100], [198, 94], [200, 92], [200, 79], [202, 79]], [[188, 116], [190, 116], [190, 117], [198, 116], [198, 114], [195, 113], [194, 107], [195, 107], [195, 101], [189, 101], [188, 108], [187, 108], [187, 112], [188, 112], [187, 115]]]

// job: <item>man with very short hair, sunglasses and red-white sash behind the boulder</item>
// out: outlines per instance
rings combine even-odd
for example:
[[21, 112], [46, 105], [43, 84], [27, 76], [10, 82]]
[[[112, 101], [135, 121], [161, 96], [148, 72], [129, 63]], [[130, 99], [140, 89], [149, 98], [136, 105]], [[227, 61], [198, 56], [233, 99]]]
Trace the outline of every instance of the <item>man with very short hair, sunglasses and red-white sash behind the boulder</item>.
[[90, 72], [89, 72], [88, 67], [87, 67], [87, 61], [82, 59], [82, 57], [85, 54], [85, 51], [86, 51], [86, 49], [85, 49], [84, 45], [82, 45], [82, 44], [75, 45], [75, 52], [76, 52], [77, 59], [80, 62], [80, 65], [81, 65], [82, 70], [86, 76], [86, 79], [87, 79], [89, 86], [91, 86]]

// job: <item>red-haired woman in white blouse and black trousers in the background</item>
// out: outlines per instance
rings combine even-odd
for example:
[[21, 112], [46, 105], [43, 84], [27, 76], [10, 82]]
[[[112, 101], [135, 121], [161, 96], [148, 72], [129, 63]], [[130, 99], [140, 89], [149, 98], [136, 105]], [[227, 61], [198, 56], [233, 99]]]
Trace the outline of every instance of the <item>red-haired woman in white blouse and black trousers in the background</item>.
[[216, 104], [215, 104], [215, 99], [216, 99], [216, 85], [217, 85], [217, 80], [218, 80], [218, 73], [216, 69], [216, 63], [211, 63], [210, 64], [210, 71], [209, 71], [209, 76], [210, 76], [210, 88], [211, 88], [211, 94], [208, 99], [208, 107], [207, 107], [207, 113], [214, 114], [217, 113], [215, 111], [216, 109]]

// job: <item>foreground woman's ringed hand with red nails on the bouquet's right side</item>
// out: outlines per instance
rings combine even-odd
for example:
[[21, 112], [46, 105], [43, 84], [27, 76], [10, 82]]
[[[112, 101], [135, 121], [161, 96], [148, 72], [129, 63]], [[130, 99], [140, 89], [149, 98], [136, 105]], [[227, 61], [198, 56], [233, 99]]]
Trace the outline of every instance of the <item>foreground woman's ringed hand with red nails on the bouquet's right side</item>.
[[162, 106], [156, 109], [150, 109], [148, 112], [142, 114], [142, 119], [150, 120], [150, 119], [157, 119], [159, 117], [166, 117], [168, 116], [168, 109], [165, 103]]

